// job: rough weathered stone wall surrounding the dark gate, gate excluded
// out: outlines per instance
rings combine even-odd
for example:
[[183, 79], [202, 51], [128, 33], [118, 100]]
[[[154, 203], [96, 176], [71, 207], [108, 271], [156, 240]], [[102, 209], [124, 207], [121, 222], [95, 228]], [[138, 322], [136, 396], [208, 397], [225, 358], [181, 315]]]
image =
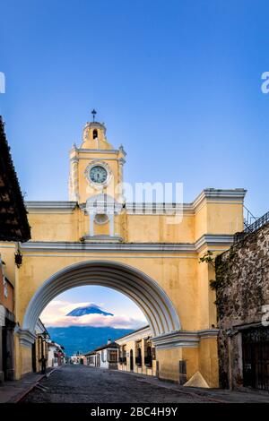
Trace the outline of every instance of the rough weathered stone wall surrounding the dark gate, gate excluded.
[[220, 382], [224, 388], [243, 383], [241, 334], [259, 326], [269, 305], [269, 224], [248, 234], [216, 258]]

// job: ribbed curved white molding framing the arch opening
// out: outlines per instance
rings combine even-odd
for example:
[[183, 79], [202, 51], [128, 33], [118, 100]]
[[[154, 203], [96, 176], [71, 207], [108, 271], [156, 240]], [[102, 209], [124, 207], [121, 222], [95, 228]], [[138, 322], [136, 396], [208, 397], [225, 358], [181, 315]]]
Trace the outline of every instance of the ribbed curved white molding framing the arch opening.
[[22, 330], [34, 334], [39, 315], [52, 299], [67, 289], [85, 285], [113, 288], [129, 296], [143, 311], [153, 336], [180, 330], [178, 313], [160, 285], [143, 271], [111, 261], [74, 263], [49, 277], [30, 299]]

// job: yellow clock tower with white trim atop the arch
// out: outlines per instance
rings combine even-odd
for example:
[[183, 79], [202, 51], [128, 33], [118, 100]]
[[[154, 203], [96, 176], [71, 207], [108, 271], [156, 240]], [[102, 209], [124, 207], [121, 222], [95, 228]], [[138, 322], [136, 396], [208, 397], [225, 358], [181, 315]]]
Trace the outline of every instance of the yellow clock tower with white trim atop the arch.
[[124, 202], [125, 157], [123, 147], [115, 149], [107, 140], [105, 125], [97, 121], [85, 125], [80, 148], [74, 144], [70, 151], [69, 200], [78, 202], [90, 217], [87, 240], [117, 240], [114, 216]]

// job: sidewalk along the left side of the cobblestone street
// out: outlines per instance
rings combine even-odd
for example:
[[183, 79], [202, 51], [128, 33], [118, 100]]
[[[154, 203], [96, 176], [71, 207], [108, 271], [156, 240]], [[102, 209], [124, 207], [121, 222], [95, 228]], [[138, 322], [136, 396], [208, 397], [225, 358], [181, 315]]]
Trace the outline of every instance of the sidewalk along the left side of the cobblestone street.
[[4, 382], [0, 385], [0, 403], [16, 403], [27, 395], [36, 384], [50, 375], [54, 370], [50, 370], [47, 374], [30, 373], [25, 374], [21, 380], [14, 380], [13, 382]]

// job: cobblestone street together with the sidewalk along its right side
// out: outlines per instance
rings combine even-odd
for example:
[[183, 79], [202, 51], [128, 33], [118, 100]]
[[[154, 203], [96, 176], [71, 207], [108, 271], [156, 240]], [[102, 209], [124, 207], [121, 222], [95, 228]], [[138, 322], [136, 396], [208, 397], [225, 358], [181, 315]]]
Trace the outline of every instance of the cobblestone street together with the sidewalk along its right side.
[[196, 390], [119, 371], [65, 365], [43, 379], [22, 402], [203, 403], [268, 402], [260, 393]]

